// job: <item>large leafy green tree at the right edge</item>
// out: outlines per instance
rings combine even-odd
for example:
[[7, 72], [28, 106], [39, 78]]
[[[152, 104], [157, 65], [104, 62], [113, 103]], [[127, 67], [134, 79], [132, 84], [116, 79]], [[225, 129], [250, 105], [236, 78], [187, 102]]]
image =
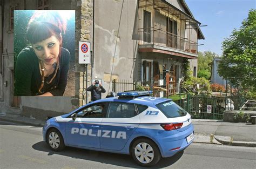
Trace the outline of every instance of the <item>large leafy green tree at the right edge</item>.
[[234, 29], [222, 45], [218, 73], [232, 85], [256, 92], [256, 10], [248, 13], [239, 30]]

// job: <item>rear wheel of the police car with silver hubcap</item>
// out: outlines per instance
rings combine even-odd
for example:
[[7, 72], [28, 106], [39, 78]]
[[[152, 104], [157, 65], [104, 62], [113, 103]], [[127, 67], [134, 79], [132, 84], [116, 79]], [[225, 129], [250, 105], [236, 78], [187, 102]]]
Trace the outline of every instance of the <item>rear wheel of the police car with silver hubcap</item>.
[[156, 143], [145, 138], [134, 141], [131, 148], [131, 155], [136, 163], [144, 167], [156, 165], [161, 158]]

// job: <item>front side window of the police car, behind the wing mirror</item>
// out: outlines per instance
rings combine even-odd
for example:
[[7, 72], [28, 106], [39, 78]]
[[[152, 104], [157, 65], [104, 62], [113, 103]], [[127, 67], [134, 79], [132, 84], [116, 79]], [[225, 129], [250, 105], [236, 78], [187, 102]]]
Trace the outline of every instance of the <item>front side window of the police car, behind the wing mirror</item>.
[[77, 118], [103, 118], [105, 103], [92, 105], [76, 114]]

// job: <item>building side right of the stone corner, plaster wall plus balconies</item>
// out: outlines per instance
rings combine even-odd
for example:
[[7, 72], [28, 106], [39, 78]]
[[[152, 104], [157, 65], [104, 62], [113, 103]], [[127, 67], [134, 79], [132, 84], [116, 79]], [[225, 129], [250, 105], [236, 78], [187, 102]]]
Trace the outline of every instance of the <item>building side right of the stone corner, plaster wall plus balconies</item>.
[[[107, 16], [105, 12], [108, 11]], [[188, 60], [197, 76], [198, 39], [204, 39], [185, 1], [95, 1], [95, 58], [92, 79], [136, 80], [179, 91], [182, 65]]]

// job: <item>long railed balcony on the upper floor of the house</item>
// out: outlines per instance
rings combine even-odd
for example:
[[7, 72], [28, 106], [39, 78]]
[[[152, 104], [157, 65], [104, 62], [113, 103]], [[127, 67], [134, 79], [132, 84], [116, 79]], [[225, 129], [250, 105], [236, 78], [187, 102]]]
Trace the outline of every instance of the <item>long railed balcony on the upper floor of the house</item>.
[[173, 33], [156, 28], [138, 29], [139, 51], [154, 50], [187, 58], [195, 58], [198, 53], [198, 43]]

